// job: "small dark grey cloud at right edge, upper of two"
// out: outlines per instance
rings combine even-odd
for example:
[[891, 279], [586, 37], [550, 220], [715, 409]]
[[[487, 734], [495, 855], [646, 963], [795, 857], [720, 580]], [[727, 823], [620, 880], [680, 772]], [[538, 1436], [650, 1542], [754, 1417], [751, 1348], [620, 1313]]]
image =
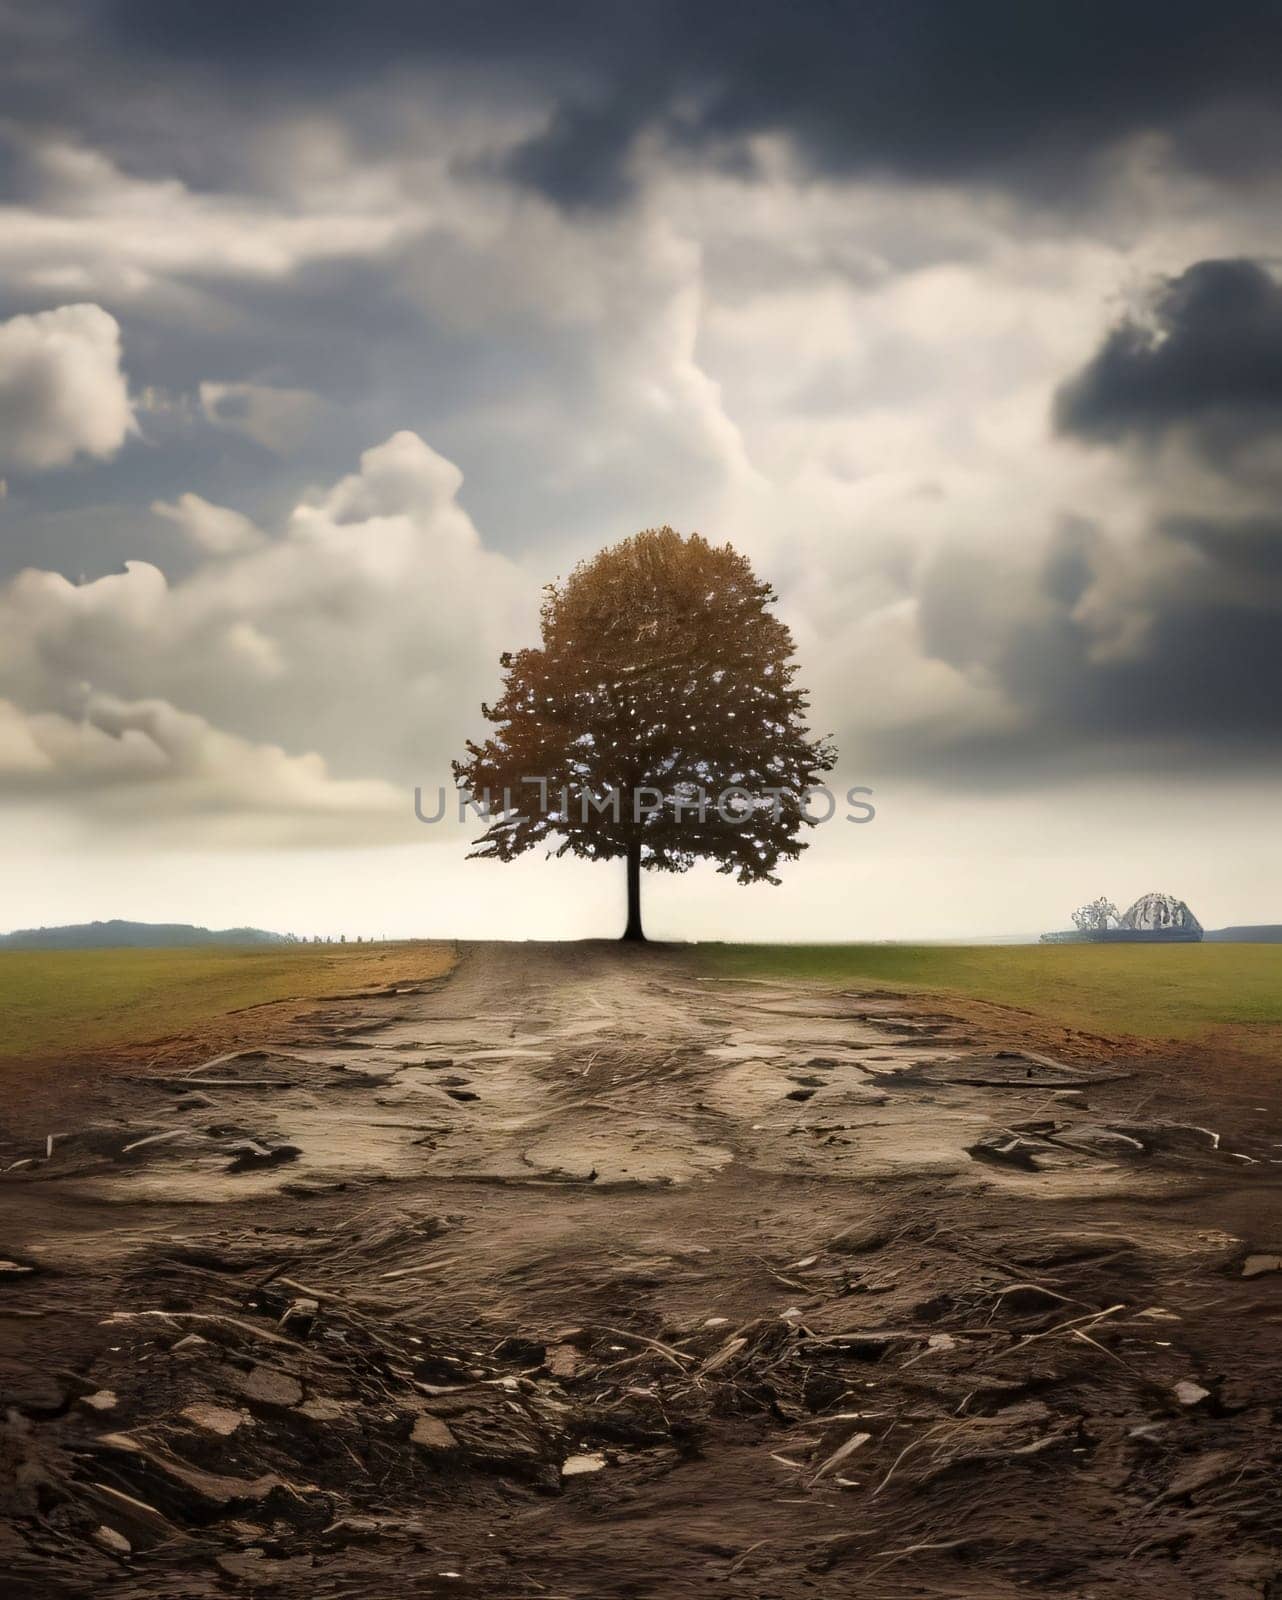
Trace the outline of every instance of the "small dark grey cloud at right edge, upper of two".
[[1079, 438], [1188, 430], [1212, 459], [1282, 427], [1282, 283], [1256, 261], [1199, 261], [1116, 328], [1056, 398]]

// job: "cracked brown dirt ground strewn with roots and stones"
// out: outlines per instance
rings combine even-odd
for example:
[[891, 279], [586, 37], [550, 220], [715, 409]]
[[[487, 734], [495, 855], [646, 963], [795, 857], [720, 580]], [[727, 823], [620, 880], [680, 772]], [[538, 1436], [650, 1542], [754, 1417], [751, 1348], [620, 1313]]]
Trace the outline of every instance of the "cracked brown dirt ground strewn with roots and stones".
[[291, 1034], [6, 1107], [18, 1600], [1282, 1597], [1274, 1088], [613, 946]]

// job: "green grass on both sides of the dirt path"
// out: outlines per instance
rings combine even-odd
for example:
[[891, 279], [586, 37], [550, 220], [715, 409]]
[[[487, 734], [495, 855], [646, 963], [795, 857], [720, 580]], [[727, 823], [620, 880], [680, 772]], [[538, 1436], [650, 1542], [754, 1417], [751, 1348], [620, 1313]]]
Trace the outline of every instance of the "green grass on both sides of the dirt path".
[[[448, 970], [448, 946], [0, 950], [0, 1061], [202, 1034], [250, 1006]], [[727, 978], [960, 995], [1064, 1027], [1136, 1038], [1234, 1043], [1282, 1059], [1282, 946], [701, 946]]]

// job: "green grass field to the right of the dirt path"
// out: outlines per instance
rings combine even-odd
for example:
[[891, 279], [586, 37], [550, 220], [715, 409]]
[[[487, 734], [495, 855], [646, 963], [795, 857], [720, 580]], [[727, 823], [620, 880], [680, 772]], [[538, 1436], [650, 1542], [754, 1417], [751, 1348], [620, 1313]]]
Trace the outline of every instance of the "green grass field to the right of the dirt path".
[[1197, 1038], [1282, 1026], [1282, 946], [706, 946], [728, 978], [813, 978], [989, 1000], [1047, 1021], [1136, 1038]]

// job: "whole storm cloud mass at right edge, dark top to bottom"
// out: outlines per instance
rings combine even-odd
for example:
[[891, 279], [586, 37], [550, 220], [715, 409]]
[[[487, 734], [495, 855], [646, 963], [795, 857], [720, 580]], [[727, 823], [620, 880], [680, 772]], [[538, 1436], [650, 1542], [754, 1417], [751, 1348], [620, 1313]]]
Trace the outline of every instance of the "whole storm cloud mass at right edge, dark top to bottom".
[[[1012, 565], [952, 546], [919, 589], [923, 651], [1008, 709], [899, 755], [978, 781], [1021, 765], [1277, 763], [1282, 736], [1282, 286], [1208, 259], [1159, 280], [1055, 397], [1117, 502]], [[947, 755], [944, 755], [947, 749]]]

